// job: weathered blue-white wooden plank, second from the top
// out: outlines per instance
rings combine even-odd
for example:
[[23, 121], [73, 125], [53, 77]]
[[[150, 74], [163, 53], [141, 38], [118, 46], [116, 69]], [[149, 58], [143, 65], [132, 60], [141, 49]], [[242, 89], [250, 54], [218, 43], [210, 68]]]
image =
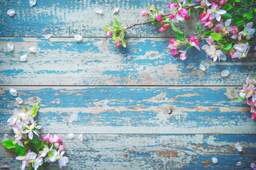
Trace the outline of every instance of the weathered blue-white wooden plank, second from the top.
[[[14, 52], [6, 43], [14, 41]], [[256, 58], [213, 62], [206, 53], [188, 50], [185, 61], [172, 56], [168, 38], [129, 38], [127, 48], [115, 47], [110, 38], [1, 38], [0, 84], [2, 85], [233, 85], [255, 77]], [[38, 53], [28, 52], [37, 47]], [[202, 45], [201, 45], [202, 46]], [[21, 55], [28, 62], [20, 62]], [[199, 65], [207, 70], [203, 72]], [[230, 75], [221, 77], [228, 69]]]

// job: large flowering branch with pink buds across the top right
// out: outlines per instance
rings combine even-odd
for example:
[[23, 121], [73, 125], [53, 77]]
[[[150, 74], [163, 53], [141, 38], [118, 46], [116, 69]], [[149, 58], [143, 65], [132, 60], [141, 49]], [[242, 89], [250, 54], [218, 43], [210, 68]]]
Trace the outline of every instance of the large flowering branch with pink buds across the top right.
[[[253, 18], [255, 17], [255, 0], [248, 0], [247, 2], [241, 0], [215, 0], [209, 2], [208, 0], [196, 0], [197, 4], [191, 4], [188, 0], [174, 0], [170, 3], [168, 8], [171, 13], [159, 13], [156, 5], [149, 5], [149, 12], [142, 11], [142, 16], [151, 17], [151, 21], [144, 23], [137, 23], [132, 26], [122, 28], [117, 18], [114, 17], [114, 29], [105, 27], [107, 36], [112, 35], [117, 46], [122, 45], [126, 47], [124, 40], [124, 33], [128, 28], [134, 26], [141, 26], [146, 23], [161, 24], [160, 32], [169, 30], [169, 26], [174, 30], [177, 40], [171, 39], [168, 48], [172, 55], [178, 55], [181, 52], [181, 60], [186, 59], [186, 50], [188, 48], [196, 47], [197, 50], [205, 50], [206, 54], [215, 61], [225, 61], [226, 55], [229, 54], [232, 58], [241, 59], [247, 56], [248, 50], [254, 41], [253, 34], [255, 28], [253, 26]], [[236, 8], [240, 6], [241, 8]], [[199, 9], [201, 13], [200, 23], [197, 31], [189, 39], [186, 38], [185, 33], [176, 28], [175, 23], [181, 23], [191, 16], [191, 10]], [[202, 26], [201, 26], [202, 25]], [[201, 28], [203, 30], [201, 30]], [[199, 47], [202, 40], [207, 40], [208, 45]], [[184, 50], [185, 49], [185, 50]]]

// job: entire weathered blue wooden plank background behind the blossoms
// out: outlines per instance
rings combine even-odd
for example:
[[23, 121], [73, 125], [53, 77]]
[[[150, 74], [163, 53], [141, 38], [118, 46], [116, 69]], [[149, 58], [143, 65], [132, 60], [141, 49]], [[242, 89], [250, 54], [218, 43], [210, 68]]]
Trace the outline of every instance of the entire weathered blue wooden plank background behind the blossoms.
[[[150, 25], [127, 30], [127, 48], [116, 47], [102, 29], [112, 23], [114, 8], [120, 8], [116, 16], [127, 26], [146, 21], [140, 13], [148, 2], [164, 12], [169, 4], [38, 0], [31, 8], [28, 1], [0, 0], [0, 139], [12, 135], [6, 120], [14, 108], [31, 109], [39, 102], [42, 135], [63, 137], [70, 157], [63, 169], [250, 169], [256, 161], [256, 122], [237, 98], [245, 79], [256, 77], [252, 51], [242, 60], [213, 62], [193, 49], [181, 61], [167, 49], [174, 33]], [[103, 15], [93, 11], [96, 7]], [[14, 18], [6, 15], [11, 8]], [[177, 27], [192, 35], [197, 25], [193, 17]], [[47, 33], [53, 38], [44, 39]], [[83, 42], [75, 42], [76, 34]], [[10, 41], [14, 52], [7, 51]], [[28, 62], [20, 62], [25, 54]], [[230, 71], [228, 77], [220, 76], [223, 69]], [[23, 105], [9, 94], [11, 88]], [[74, 140], [66, 136], [70, 132]], [[0, 145], [4, 163], [10, 169], [21, 164]]]

